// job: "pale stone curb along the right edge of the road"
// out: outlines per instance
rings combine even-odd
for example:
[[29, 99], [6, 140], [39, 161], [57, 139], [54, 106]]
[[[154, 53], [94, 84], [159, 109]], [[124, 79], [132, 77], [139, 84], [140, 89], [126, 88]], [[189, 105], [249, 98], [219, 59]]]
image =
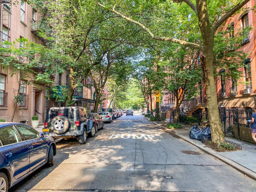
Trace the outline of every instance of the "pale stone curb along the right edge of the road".
[[[144, 117], [144, 118], [146, 118], [148, 121], [150, 121], [149, 118], [147, 118], [147, 117]], [[188, 142], [188, 143], [190, 143], [190, 144], [196, 146], [197, 148], [199, 148], [200, 150], [204, 151], [205, 153], [207, 153], [207, 154], [209, 154], [209, 155], [212, 155], [213, 157], [215, 157], [215, 158], [221, 160], [222, 162], [226, 163], [227, 165], [230, 165], [230, 166], [233, 167], [234, 169], [236, 169], [236, 170], [238, 170], [239, 172], [245, 174], [246, 176], [252, 178], [253, 180], [256, 180], [256, 173], [253, 172], [252, 170], [247, 169], [246, 167], [244, 167], [244, 166], [242, 166], [242, 165], [240, 165], [240, 164], [238, 164], [238, 163], [232, 161], [232, 160], [229, 159], [229, 158], [223, 157], [221, 154], [218, 154], [217, 152], [215, 152], [215, 151], [212, 150], [211, 148], [207, 148], [207, 149], [206, 149], [206, 148], [202, 147], [201, 145], [199, 145], [199, 144], [197, 144], [197, 143], [194, 143], [194, 142], [192, 142], [191, 140], [188, 140], [188, 139], [185, 138], [184, 136], [178, 135], [176, 132], [170, 131], [169, 129], [167, 129], [167, 128], [165, 128], [165, 127], [162, 127], [161, 125], [155, 123], [154, 121], [151, 121], [151, 122], [154, 123], [154, 124], [156, 124], [156, 125], [158, 125], [159, 127], [163, 128], [163, 129], [166, 129], [166, 130], [167, 130], [168, 132], [170, 132], [172, 135], [175, 135], [175, 136], [177, 136], [178, 138], [183, 139], [183, 140], [185, 140], [186, 142]], [[203, 146], [205, 146], [205, 145], [203, 144]]]

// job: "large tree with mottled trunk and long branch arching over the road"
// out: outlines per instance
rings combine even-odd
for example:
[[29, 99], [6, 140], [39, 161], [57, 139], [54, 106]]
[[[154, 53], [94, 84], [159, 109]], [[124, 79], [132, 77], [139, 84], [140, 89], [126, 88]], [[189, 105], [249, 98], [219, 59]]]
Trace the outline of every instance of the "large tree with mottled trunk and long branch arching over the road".
[[[196, 25], [198, 25], [200, 29], [200, 38], [202, 38], [202, 42], [190, 42], [189, 39], [188, 41], [186, 41], [184, 40], [184, 38], [175, 38], [175, 36], [178, 35], [174, 35], [174, 38], [159, 37], [154, 34], [154, 32], [157, 33], [157, 30], [155, 30], [155, 28], [153, 28], [153, 30], [150, 30], [148, 27], [143, 25], [142, 22], [138, 21], [140, 18], [138, 20], [134, 20], [132, 19], [132, 17], [128, 17], [122, 14], [121, 11], [116, 11], [116, 7], [118, 7], [118, 9], [120, 10], [120, 7], [122, 7], [122, 5], [125, 8], [129, 8], [129, 6], [131, 6], [131, 4], [129, 3], [131, 2], [133, 5], [132, 8], [137, 8], [135, 7], [136, 5], [141, 5], [141, 7], [143, 7], [140, 1], [123, 1], [123, 4], [121, 4], [121, 1], [111, 1], [109, 2], [110, 4], [108, 6], [105, 6], [97, 1], [97, 4], [103, 8], [106, 8], [106, 10], [112, 11], [114, 14], [119, 15], [122, 18], [142, 27], [142, 29], [145, 30], [150, 35], [150, 37], [155, 40], [171, 41], [187, 47], [198, 49], [202, 52], [201, 67], [203, 71], [203, 82], [206, 87], [207, 109], [211, 125], [212, 141], [221, 144], [225, 143], [225, 138], [222, 131], [220, 117], [219, 115], [216, 115], [219, 114], [219, 111], [217, 105], [217, 93], [214, 79], [214, 37], [219, 26], [221, 26], [222, 23], [224, 23], [230, 16], [232, 16], [234, 13], [240, 10], [248, 1], [249, 0], [218, 0], [217, 2], [215, 1], [214, 3], [209, 3], [207, 2], [207, 0], [196, 0], [195, 3], [193, 3], [191, 0], [173, 0], [174, 3], [185, 3], [187, 4], [188, 7], [192, 9], [193, 12], [187, 19], [195, 18], [194, 20], [192, 20], [192, 23], [196, 23]], [[156, 2], [157, 4], [161, 4], [161, 1], [154, 2]], [[170, 1], [164, 1], [163, 4], [169, 3]], [[148, 6], [148, 4], [146, 5]], [[141, 7], [139, 7], [140, 13], [142, 13]], [[177, 15], [176, 18], [178, 18]]]

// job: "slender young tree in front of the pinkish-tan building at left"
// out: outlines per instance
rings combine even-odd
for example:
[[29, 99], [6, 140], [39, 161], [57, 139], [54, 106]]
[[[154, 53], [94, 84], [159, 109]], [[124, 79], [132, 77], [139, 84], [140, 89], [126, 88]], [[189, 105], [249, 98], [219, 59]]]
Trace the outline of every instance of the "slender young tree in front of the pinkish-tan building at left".
[[[22, 45], [22, 46], [20, 46]], [[39, 45], [29, 42], [26, 38], [16, 39], [15, 42], [5, 42], [0, 47], [0, 61], [3, 68], [11, 67], [11, 76], [15, 76], [18, 83], [18, 89], [14, 90], [15, 107], [12, 113], [11, 122], [17, 109], [18, 103], [24, 101], [25, 96], [20, 94], [20, 87], [30, 83], [52, 84], [52, 74], [60, 72], [59, 66], [62, 56], [60, 53], [45, 48], [44, 45]], [[37, 67], [45, 68], [44, 71], [38, 71]]]

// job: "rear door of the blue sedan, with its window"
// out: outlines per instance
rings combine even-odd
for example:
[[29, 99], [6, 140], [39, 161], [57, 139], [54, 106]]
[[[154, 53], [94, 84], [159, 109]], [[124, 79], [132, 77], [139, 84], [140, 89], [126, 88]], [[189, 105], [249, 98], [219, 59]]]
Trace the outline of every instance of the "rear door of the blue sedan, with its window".
[[14, 126], [0, 129], [1, 154], [10, 164], [15, 179], [29, 172], [29, 147], [22, 141]]

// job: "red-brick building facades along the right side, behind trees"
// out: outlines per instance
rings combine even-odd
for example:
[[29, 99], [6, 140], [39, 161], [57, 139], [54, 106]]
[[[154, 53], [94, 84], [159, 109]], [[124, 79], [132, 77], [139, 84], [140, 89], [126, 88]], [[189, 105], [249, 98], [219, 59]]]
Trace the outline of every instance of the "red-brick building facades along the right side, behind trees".
[[[239, 13], [231, 16], [221, 26], [220, 30], [231, 30], [230, 35], [235, 35], [238, 29], [243, 30], [251, 26], [252, 31], [242, 41], [239, 50], [244, 50], [249, 57], [244, 61], [244, 67], [238, 70], [242, 72], [241, 79], [225, 78], [222, 75], [224, 69], [218, 69], [218, 77], [215, 79], [215, 85], [218, 97], [219, 108], [255, 108], [256, 107], [256, 15], [253, 7], [256, 5], [255, 0], [249, 1], [244, 8], [248, 8], [245, 13]], [[236, 50], [234, 50], [236, 51]], [[245, 82], [247, 82], [245, 84]], [[206, 91], [203, 85], [197, 84], [196, 89], [200, 90], [200, 94], [195, 98], [184, 101], [181, 105], [182, 111], [193, 115], [202, 113], [207, 114], [206, 108]], [[161, 106], [163, 109], [169, 110], [175, 106], [175, 97], [172, 94], [163, 94]]]

